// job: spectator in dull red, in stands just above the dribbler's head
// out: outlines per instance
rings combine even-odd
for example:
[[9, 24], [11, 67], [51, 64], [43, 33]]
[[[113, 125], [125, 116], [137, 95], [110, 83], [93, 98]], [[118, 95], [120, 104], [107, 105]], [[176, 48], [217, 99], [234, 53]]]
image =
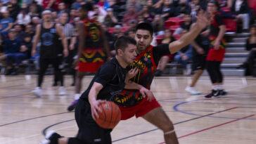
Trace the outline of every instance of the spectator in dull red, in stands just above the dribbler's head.
[[136, 20], [138, 17], [138, 13], [136, 13], [134, 9], [134, 5], [129, 6], [129, 10], [127, 13], [124, 14], [124, 17], [122, 19], [122, 25], [124, 27], [127, 27], [129, 25], [129, 20]]

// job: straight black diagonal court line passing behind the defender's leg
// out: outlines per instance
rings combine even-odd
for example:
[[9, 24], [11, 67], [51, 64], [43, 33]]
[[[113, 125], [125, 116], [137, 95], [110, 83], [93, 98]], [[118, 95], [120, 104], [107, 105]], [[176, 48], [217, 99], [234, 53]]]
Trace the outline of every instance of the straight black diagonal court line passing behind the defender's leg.
[[[176, 125], [176, 124], [182, 124], [182, 123], [184, 123], [184, 122], [189, 122], [189, 121], [192, 121], [192, 120], [195, 120], [195, 119], [200, 119], [200, 118], [202, 118], [202, 117], [207, 117], [207, 116], [212, 115], [212, 114], [217, 114], [217, 113], [220, 113], [220, 112], [226, 112], [226, 111], [233, 110], [233, 109], [236, 109], [236, 108], [238, 108], [238, 107], [232, 107], [232, 108], [229, 108], [229, 109], [226, 109], [226, 110], [221, 110], [221, 111], [218, 111], [218, 112], [213, 112], [213, 113], [210, 113], [210, 114], [205, 114], [205, 115], [200, 116], [200, 117], [195, 117], [195, 118], [193, 118], [193, 119], [187, 119], [187, 120], [185, 120], [185, 121], [177, 122], [177, 123], [175, 123], [174, 125]], [[142, 133], [137, 133], [137, 134], [134, 134], [134, 135], [132, 135], [132, 136], [127, 136], [127, 137], [125, 137], [125, 138], [120, 138], [120, 139], [117, 139], [117, 140], [113, 140], [112, 142], [115, 143], [115, 142], [120, 141], [120, 140], [124, 140], [124, 139], [127, 139], [127, 138], [132, 138], [132, 137], [134, 137], [134, 136], [139, 136], [139, 135], [141, 135], [141, 134], [149, 133], [149, 132], [155, 131], [155, 130], [158, 130], [158, 129], [151, 129], [151, 130], [149, 130], [149, 131], [144, 131], [144, 132], [142, 132]]]

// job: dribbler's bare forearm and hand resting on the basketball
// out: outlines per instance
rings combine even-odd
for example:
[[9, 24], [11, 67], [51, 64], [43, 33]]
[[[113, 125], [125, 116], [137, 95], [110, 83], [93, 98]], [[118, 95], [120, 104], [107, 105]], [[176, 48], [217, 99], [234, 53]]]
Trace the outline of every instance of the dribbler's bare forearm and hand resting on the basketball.
[[[98, 93], [103, 89], [103, 85], [94, 82], [91, 86], [91, 90], [89, 91], [89, 103], [91, 105], [91, 116], [95, 119], [98, 117], [98, 112], [101, 112], [101, 109], [98, 107], [99, 104], [105, 103], [105, 100], [97, 100]], [[97, 112], [98, 111], [98, 112]]]

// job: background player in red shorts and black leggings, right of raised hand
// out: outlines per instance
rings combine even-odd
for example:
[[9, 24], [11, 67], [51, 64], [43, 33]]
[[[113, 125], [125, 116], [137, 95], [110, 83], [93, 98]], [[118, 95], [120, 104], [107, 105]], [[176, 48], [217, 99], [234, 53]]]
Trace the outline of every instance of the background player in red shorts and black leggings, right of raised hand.
[[223, 75], [220, 65], [225, 55], [225, 39], [226, 26], [222, 20], [222, 13], [219, 13], [219, 3], [217, 0], [210, 0], [207, 4], [207, 11], [211, 15], [210, 25], [210, 49], [207, 54], [207, 72], [212, 82], [212, 92], [207, 94], [205, 98], [216, 98], [226, 95], [223, 89]]

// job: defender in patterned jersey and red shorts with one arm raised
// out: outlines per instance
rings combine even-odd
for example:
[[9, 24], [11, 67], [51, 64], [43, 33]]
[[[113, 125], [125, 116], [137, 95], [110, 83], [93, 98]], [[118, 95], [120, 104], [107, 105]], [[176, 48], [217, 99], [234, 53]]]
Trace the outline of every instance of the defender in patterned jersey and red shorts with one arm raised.
[[[181, 39], [170, 44], [155, 47], [150, 45], [151, 41], [153, 41], [153, 27], [146, 22], [137, 25], [135, 30], [137, 57], [130, 67], [137, 67], [139, 72], [131, 80], [139, 84], [139, 86], [150, 89], [155, 70], [162, 55], [176, 53], [184, 46], [190, 44], [206, 27], [207, 21], [206, 13], [205, 15], [198, 16], [196, 25], [187, 34], [184, 34]], [[134, 115], [136, 117], [143, 117], [143, 119], [146, 119], [146, 121], [163, 131], [165, 143], [179, 143], [172, 122], [154, 96], [143, 96], [138, 90], [140, 89], [138, 85], [133, 85], [133, 89], [131, 89], [132, 87], [124, 89], [114, 100], [114, 103], [120, 106], [122, 112], [121, 119], [129, 119], [134, 117]]]

